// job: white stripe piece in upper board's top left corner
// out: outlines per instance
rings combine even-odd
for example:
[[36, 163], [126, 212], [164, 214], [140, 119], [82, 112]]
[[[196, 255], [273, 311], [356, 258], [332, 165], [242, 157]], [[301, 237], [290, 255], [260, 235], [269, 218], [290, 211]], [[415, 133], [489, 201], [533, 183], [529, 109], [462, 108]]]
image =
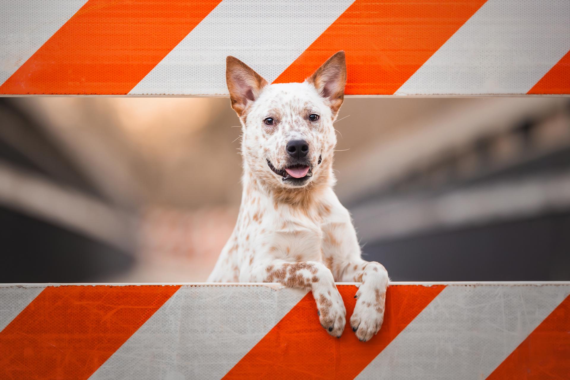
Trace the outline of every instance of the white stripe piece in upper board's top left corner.
[[87, 0], [0, 1], [0, 84], [28, 60]]

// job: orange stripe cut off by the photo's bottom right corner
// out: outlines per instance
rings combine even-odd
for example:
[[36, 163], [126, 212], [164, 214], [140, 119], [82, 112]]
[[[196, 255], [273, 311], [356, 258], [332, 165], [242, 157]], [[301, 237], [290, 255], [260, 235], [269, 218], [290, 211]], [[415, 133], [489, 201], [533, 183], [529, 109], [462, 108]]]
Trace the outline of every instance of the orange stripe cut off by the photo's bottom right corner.
[[570, 378], [570, 296], [487, 377], [503, 379]]

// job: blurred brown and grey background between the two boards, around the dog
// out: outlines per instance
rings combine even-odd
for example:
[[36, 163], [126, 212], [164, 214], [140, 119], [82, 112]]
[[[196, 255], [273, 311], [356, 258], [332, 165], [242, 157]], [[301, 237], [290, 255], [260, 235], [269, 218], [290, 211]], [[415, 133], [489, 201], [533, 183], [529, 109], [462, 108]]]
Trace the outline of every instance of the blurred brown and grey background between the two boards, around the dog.
[[[393, 280], [570, 280], [570, 99], [349, 97], [335, 128]], [[205, 281], [240, 134], [223, 98], [0, 98], [0, 282]]]

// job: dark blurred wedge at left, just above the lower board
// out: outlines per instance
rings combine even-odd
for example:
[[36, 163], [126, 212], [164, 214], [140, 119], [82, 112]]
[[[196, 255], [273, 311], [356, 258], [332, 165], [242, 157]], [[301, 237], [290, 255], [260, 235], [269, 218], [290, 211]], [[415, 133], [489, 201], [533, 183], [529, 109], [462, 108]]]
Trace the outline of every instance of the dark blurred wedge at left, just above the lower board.
[[101, 281], [132, 267], [134, 259], [103, 242], [0, 208], [2, 283]]

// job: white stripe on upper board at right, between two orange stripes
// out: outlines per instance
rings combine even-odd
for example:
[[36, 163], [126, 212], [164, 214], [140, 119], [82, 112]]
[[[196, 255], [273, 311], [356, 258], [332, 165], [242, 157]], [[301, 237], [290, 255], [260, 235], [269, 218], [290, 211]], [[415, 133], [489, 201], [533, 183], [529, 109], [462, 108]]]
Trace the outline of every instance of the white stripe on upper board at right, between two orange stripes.
[[488, 0], [396, 95], [527, 93], [570, 49], [570, 1]]

